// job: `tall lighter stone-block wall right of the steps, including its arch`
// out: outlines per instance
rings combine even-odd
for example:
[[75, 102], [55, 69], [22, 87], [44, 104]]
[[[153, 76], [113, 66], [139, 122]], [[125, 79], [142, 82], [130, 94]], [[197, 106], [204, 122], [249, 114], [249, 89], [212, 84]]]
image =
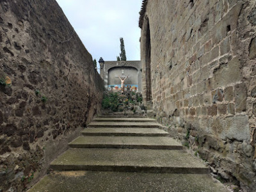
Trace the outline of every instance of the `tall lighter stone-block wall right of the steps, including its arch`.
[[145, 104], [214, 173], [255, 188], [256, 2], [145, 0], [140, 27]]

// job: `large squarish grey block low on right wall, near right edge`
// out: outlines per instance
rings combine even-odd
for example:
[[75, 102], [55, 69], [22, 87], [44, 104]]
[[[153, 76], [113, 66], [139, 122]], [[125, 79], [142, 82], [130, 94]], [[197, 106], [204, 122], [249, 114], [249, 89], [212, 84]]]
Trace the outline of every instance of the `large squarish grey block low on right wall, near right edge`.
[[226, 136], [228, 139], [250, 141], [250, 127], [247, 115], [228, 116], [225, 120]]

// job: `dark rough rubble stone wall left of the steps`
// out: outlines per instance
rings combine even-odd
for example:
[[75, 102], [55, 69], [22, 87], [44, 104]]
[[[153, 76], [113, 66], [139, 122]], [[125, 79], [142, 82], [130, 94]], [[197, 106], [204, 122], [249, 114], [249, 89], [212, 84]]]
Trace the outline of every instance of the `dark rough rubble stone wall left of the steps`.
[[0, 45], [0, 191], [21, 191], [99, 113], [103, 82], [54, 0], [0, 1]]

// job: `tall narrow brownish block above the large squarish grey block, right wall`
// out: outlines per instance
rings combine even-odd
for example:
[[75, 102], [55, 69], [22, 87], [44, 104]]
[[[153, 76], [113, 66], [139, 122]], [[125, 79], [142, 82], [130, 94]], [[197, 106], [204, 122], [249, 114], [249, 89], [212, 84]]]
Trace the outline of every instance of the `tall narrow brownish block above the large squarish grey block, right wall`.
[[247, 89], [246, 84], [236, 84], [234, 87], [236, 113], [246, 111]]

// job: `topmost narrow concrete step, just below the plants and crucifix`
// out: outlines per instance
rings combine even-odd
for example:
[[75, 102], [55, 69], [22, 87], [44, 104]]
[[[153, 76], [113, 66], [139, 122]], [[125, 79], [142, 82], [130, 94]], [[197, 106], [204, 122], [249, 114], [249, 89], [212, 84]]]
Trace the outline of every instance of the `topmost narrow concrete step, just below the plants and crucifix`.
[[156, 122], [154, 118], [95, 118], [93, 122]]

